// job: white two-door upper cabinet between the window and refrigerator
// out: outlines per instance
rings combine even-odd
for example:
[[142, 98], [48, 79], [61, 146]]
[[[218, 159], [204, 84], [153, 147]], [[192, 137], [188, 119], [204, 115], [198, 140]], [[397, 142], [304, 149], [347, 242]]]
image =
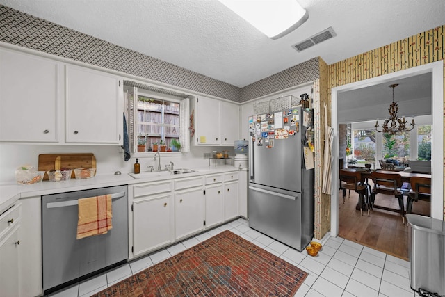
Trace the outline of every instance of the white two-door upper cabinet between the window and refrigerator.
[[207, 97], [193, 100], [195, 145], [234, 145], [239, 137], [239, 106]]

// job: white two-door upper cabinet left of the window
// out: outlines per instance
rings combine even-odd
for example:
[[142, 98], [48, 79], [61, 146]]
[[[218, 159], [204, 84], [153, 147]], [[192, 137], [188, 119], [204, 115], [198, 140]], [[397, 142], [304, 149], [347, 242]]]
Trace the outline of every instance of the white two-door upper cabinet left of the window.
[[122, 145], [122, 84], [108, 72], [0, 47], [0, 142]]

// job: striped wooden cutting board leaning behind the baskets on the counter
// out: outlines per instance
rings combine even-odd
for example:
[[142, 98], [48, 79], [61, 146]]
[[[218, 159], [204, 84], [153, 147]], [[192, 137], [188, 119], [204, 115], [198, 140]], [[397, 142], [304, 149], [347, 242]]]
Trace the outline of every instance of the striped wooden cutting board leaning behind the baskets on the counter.
[[[39, 154], [39, 171], [59, 170], [60, 168], [96, 168], [96, 157], [94, 154]], [[74, 171], [71, 173], [74, 179]], [[48, 180], [44, 175], [43, 180]]]

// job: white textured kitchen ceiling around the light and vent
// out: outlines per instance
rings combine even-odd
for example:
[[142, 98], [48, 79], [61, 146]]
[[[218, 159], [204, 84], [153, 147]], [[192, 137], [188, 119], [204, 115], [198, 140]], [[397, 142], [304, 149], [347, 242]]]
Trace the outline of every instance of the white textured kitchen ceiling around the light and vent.
[[[243, 87], [310, 58], [327, 64], [445, 24], [443, 0], [299, 0], [309, 19], [272, 40], [216, 0], [0, 0], [10, 8]], [[291, 46], [332, 26], [337, 36]]]

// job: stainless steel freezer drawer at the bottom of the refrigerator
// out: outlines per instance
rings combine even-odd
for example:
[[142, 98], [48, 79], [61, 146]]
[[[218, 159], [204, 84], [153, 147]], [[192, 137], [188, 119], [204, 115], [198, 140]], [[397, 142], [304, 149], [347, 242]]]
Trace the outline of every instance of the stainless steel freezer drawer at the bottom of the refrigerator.
[[314, 232], [313, 214], [302, 214], [302, 195], [264, 186], [249, 186], [249, 227], [302, 250]]

